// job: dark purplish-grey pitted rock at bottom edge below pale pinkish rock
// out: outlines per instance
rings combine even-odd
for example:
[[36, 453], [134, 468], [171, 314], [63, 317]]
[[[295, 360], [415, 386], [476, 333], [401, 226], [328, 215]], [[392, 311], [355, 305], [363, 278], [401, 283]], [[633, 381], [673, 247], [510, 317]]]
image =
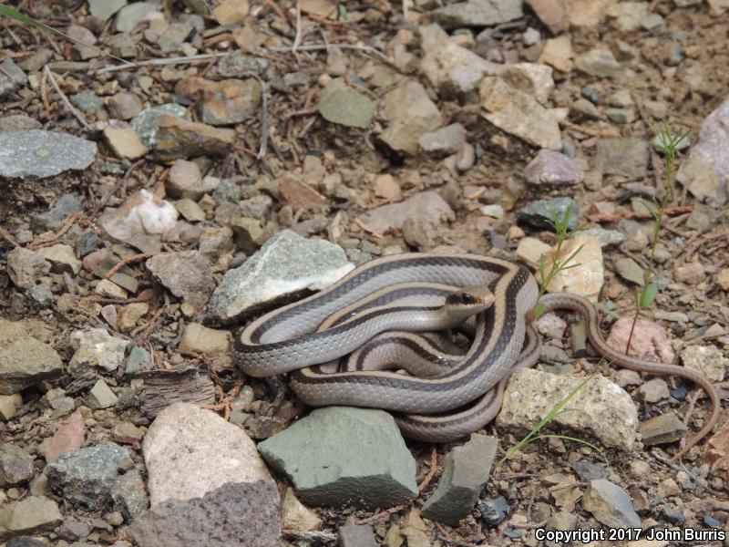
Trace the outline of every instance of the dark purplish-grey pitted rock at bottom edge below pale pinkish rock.
[[202, 498], [154, 505], [130, 527], [139, 547], [279, 547], [281, 518], [274, 483], [229, 483]]

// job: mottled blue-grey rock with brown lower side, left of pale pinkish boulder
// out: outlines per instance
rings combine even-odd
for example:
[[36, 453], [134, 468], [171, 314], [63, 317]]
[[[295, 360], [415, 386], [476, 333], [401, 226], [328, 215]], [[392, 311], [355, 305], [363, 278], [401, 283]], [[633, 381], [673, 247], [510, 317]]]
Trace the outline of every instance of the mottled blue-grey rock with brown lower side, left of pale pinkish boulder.
[[45, 472], [51, 489], [67, 501], [104, 511], [116, 509], [117, 480], [130, 471], [136, 472], [128, 450], [104, 442], [66, 452], [48, 464]]

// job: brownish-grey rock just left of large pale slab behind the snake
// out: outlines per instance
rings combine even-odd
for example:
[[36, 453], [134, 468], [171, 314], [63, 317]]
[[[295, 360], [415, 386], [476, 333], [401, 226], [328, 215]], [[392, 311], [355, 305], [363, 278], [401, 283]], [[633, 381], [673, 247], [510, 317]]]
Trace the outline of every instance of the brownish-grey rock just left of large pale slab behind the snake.
[[197, 312], [205, 309], [215, 288], [215, 281], [210, 262], [204, 255], [197, 251], [160, 253], [149, 258], [146, 265], [170, 293], [180, 297]]

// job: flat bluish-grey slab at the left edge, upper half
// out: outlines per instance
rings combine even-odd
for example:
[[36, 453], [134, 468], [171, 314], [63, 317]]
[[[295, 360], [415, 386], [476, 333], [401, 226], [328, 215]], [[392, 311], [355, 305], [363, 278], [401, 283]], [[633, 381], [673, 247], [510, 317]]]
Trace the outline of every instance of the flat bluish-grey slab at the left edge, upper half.
[[66, 133], [30, 129], [0, 133], [0, 178], [53, 177], [84, 170], [97, 155], [97, 143]]

